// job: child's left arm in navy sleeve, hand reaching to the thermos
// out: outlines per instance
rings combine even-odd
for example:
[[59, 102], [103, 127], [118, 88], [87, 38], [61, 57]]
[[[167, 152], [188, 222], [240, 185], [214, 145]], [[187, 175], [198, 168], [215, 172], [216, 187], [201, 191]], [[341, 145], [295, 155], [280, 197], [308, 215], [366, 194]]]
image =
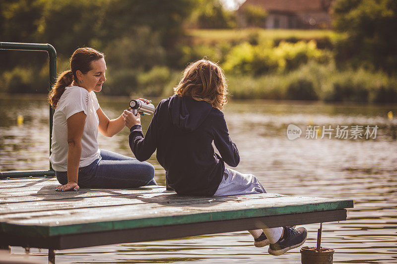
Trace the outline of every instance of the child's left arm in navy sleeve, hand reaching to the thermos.
[[[156, 150], [156, 136], [155, 133], [157, 131], [157, 122], [156, 120], [156, 111], [153, 114], [153, 118], [150, 122], [149, 127], [147, 128], [146, 135], [143, 137], [142, 126], [139, 122], [136, 122], [130, 128], [130, 148], [135, 155], [135, 158], [139, 161], [144, 161], [149, 159], [154, 151]], [[123, 115], [127, 115], [127, 118], [135, 118], [139, 119], [140, 115], [138, 114], [136, 117], [130, 111], [125, 111]]]

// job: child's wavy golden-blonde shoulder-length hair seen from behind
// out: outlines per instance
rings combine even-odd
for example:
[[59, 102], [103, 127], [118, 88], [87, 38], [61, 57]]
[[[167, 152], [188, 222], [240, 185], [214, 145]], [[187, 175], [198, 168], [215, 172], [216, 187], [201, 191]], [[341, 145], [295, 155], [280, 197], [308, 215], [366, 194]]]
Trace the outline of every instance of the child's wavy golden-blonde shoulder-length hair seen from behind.
[[186, 67], [179, 84], [174, 88], [179, 96], [190, 96], [222, 109], [227, 103], [226, 78], [218, 64], [200, 59]]

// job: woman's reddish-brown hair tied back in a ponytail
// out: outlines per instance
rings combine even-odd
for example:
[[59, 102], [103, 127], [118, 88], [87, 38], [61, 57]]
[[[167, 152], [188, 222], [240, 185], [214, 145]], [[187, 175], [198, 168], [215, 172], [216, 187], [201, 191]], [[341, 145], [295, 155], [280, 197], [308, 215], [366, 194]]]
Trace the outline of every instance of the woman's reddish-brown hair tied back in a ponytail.
[[70, 70], [62, 72], [57, 82], [51, 87], [50, 93], [48, 94], [48, 102], [55, 109], [58, 106], [58, 102], [61, 96], [65, 92], [65, 87], [71, 85], [73, 80], [77, 80], [76, 71], [80, 70], [83, 74], [86, 74], [91, 70], [91, 62], [104, 58], [105, 55], [92, 48], [79, 48], [74, 51], [70, 57]]

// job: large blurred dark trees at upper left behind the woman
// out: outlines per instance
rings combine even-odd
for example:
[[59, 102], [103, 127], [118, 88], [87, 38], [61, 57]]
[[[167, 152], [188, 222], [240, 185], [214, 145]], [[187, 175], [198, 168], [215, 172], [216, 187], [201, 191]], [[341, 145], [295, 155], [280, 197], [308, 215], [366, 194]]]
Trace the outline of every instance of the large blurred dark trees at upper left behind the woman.
[[[119, 82], [111, 94], [123, 94], [122, 86], [133, 83], [137, 74], [155, 65], [176, 65], [176, 44], [184, 36], [183, 25], [194, 5], [195, 0], [0, 0], [0, 38], [52, 44], [58, 70], [67, 67], [76, 48], [105, 52], [108, 68], [125, 77], [119, 78], [125, 82]], [[46, 59], [41, 53], [1, 52], [0, 80], [35, 86], [34, 91], [45, 93]], [[31, 79], [38, 78], [40, 83], [32, 85]], [[0, 89], [12, 92], [14, 88], [4, 83], [0, 81]]]

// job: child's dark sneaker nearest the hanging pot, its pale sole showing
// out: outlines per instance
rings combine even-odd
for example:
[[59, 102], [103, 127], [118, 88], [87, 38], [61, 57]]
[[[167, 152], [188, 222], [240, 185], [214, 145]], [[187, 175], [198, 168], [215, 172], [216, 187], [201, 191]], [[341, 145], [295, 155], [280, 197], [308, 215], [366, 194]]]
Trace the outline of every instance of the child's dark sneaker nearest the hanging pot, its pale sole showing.
[[270, 244], [267, 251], [270, 255], [279, 256], [290, 249], [297, 248], [305, 243], [307, 230], [304, 227], [296, 229], [284, 226], [284, 235], [276, 243]]

